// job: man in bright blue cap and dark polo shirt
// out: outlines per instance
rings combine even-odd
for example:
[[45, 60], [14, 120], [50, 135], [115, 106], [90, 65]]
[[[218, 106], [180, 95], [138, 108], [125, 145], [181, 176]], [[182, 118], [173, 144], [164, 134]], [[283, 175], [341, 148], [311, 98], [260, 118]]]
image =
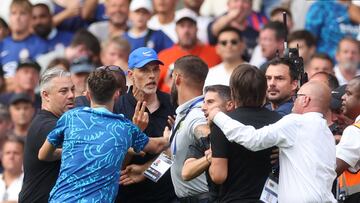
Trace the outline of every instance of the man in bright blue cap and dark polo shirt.
[[[157, 90], [160, 77], [160, 64], [153, 49], [142, 47], [134, 50], [129, 56], [129, 78], [133, 84], [127, 94], [121, 96], [117, 113], [131, 119], [137, 101], [146, 101], [146, 111], [149, 114], [149, 124], [145, 133], [149, 137], [162, 136], [168, 116], [174, 115], [170, 96]], [[169, 203], [176, 196], [171, 182], [170, 170], [157, 183], [146, 179], [143, 172], [150, 166], [157, 155], [132, 156], [130, 164], [122, 171], [120, 178], [122, 186], [116, 202]]]

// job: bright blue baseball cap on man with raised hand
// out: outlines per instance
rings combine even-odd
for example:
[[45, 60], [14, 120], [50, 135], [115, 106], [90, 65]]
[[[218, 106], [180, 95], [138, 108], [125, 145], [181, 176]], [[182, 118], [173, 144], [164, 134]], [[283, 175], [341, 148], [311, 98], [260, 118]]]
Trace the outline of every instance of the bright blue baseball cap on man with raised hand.
[[137, 48], [129, 55], [129, 69], [142, 68], [152, 61], [164, 65], [164, 63], [159, 60], [154, 49], [148, 47]]

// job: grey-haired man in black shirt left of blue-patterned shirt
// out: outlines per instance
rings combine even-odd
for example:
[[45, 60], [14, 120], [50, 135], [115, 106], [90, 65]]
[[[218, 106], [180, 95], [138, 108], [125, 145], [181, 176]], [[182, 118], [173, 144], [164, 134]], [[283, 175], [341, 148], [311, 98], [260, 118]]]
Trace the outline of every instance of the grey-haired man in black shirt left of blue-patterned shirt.
[[49, 69], [40, 79], [41, 110], [33, 119], [24, 150], [24, 182], [19, 202], [48, 202], [50, 190], [59, 174], [61, 150], [52, 162], [40, 161], [38, 152], [59, 117], [74, 107], [74, 84], [70, 73]]

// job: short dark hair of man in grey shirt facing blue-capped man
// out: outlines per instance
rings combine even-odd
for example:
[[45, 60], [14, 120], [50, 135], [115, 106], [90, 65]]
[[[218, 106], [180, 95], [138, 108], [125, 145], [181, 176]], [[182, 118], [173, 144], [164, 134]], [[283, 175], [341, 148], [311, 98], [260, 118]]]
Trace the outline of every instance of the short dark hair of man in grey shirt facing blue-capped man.
[[203, 89], [204, 82], [209, 72], [207, 64], [197, 56], [183, 56], [174, 63], [174, 70], [184, 75], [186, 83], [190, 86]]

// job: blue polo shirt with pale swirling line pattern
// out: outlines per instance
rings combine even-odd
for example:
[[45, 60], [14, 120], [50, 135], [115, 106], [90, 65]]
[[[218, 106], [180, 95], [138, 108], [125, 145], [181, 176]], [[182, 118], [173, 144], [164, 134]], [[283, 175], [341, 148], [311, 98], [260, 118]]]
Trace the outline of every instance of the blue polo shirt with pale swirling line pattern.
[[114, 202], [127, 150], [149, 141], [122, 114], [89, 107], [64, 113], [47, 139], [63, 150], [49, 202]]

